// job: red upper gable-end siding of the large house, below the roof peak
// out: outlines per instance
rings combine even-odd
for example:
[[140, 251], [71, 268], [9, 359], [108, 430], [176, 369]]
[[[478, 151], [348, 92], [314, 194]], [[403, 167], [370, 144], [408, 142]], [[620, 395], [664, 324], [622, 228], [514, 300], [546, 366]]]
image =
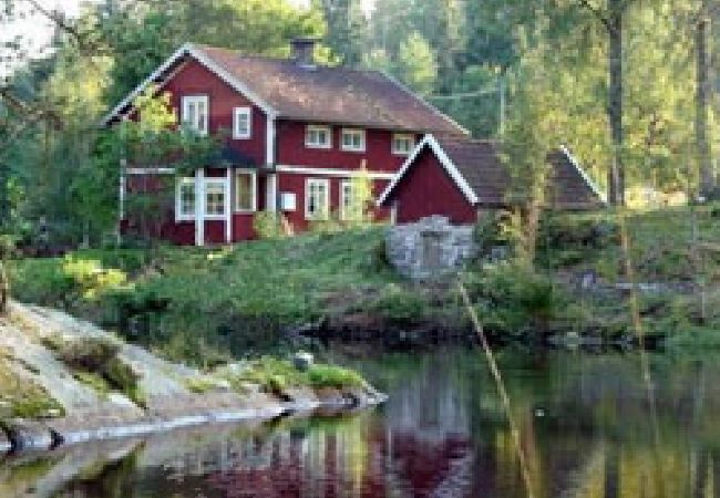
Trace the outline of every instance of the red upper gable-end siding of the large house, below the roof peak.
[[[210, 133], [226, 131], [227, 143], [230, 147], [253, 157], [259, 165], [266, 163], [267, 121], [265, 113], [205, 66], [195, 61], [188, 61], [163, 87], [163, 91], [171, 92], [173, 107], [177, 111], [178, 117], [181, 100], [184, 95], [207, 95], [209, 97]], [[253, 136], [249, 139], [233, 139], [233, 110], [246, 106], [253, 107]]]

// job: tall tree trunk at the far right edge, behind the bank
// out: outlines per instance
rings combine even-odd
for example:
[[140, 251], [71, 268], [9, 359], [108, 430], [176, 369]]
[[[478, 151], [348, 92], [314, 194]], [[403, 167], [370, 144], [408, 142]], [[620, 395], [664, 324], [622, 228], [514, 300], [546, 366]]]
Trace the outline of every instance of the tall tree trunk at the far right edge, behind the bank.
[[696, 28], [696, 56], [697, 56], [697, 90], [696, 90], [696, 146], [698, 169], [700, 176], [700, 195], [707, 197], [714, 190], [716, 181], [712, 174], [712, 152], [708, 139], [708, 111], [710, 100], [710, 58], [708, 54], [707, 15], [708, 0], [702, 1]]

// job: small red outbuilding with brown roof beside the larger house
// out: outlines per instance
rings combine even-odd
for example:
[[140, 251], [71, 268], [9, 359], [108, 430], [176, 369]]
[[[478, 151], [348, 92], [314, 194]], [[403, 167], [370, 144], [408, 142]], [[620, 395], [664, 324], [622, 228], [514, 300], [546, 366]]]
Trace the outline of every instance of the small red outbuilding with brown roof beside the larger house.
[[[556, 209], [604, 206], [603, 196], [569, 151], [548, 155], [552, 180], [547, 203]], [[508, 206], [511, 176], [496, 143], [426, 135], [384, 189], [378, 206], [390, 208], [398, 224], [433, 215], [470, 225], [479, 214]]]

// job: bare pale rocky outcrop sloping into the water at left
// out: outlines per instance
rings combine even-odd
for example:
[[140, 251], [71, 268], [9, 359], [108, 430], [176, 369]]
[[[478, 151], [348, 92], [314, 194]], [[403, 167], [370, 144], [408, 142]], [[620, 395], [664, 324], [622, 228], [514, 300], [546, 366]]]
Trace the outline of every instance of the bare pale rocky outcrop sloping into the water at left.
[[[181, 427], [243, 419], [274, 418], [288, 412], [333, 406], [309, 388], [289, 390], [284, 398], [257, 388], [239, 394], [227, 382], [185, 365], [169, 363], [135, 345], [114, 339], [96, 326], [64, 313], [12, 303], [11, 319], [0, 322], [0, 346], [12, 355], [11, 367], [41, 385], [64, 414], [42, 421], [0, 421], [0, 452], [48, 449], [58, 445], [143, 436]], [[117, 357], [137, 376], [142, 404], [122, 393], [102, 393], [81, 380], [59, 361], [48, 345], [62, 340], [103, 339], [115, 341]], [[192, 385], [202, 384], [203, 392]], [[384, 401], [368, 386], [346, 396], [347, 406], [367, 406]], [[50, 415], [50, 414], [49, 414]]]

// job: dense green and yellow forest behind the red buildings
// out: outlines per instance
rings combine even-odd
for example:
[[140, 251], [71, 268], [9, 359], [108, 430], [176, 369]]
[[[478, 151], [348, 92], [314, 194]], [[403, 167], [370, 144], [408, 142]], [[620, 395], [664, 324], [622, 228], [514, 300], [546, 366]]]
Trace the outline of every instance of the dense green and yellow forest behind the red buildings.
[[100, 117], [184, 42], [389, 72], [522, 172], [567, 144], [615, 204], [716, 189], [720, 6], [710, 0], [102, 0], [34, 12], [51, 55], [0, 46], [0, 220], [19, 237], [97, 245], [115, 229], [117, 163]]

